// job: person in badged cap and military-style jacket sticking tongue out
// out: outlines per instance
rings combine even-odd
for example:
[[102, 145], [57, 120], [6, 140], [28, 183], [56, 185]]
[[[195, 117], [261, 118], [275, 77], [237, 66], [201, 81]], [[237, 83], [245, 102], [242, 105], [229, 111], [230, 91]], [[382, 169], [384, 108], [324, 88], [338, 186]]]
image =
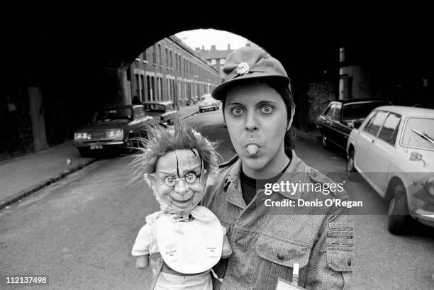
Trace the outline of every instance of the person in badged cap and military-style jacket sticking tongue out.
[[[305, 289], [348, 289], [354, 226], [348, 208], [321, 206], [348, 196], [294, 151], [295, 105], [284, 67], [246, 47], [228, 55], [223, 74], [212, 96], [223, 103], [237, 155], [220, 165], [201, 204], [226, 227], [233, 253], [214, 267], [223, 278], [213, 279], [214, 289], [277, 289], [296, 279], [295, 268]], [[298, 189], [290, 192], [291, 184]]]

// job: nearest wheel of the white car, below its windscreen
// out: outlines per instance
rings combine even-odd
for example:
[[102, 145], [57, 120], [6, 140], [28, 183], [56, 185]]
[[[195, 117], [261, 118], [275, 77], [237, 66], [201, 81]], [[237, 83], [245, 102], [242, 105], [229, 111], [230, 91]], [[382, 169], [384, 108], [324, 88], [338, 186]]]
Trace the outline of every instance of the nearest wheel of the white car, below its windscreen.
[[389, 201], [389, 221], [387, 222], [387, 228], [389, 232], [394, 235], [404, 235], [408, 232], [408, 223], [410, 222], [404, 184], [402, 184], [402, 182], [396, 182], [391, 192], [393, 196]]

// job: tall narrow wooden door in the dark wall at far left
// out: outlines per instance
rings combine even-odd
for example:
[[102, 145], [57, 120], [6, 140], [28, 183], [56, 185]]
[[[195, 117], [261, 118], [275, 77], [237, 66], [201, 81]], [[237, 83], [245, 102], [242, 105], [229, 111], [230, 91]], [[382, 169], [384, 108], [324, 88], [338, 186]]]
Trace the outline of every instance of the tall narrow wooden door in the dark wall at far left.
[[39, 87], [28, 87], [30, 101], [30, 116], [32, 118], [33, 145], [35, 151], [48, 148], [45, 135], [45, 118], [42, 101], [42, 94]]

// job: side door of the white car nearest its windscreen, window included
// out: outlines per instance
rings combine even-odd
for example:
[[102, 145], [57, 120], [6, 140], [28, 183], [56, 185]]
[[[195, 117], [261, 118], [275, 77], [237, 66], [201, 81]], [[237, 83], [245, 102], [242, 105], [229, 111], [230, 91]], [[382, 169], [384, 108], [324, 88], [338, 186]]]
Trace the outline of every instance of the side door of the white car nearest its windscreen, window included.
[[369, 158], [372, 160], [372, 182], [377, 186], [382, 195], [386, 192], [389, 180], [390, 162], [396, 156], [396, 133], [398, 132], [401, 116], [389, 113], [380, 128], [377, 138], [369, 148]]

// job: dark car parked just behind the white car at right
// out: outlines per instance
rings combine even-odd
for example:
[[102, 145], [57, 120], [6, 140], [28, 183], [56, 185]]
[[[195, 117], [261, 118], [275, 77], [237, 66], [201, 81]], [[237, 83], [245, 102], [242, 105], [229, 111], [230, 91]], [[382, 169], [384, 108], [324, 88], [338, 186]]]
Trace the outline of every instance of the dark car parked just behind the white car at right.
[[347, 99], [332, 101], [316, 119], [324, 147], [336, 145], [345, 150], [352, 128], [358, 128], [378, 106], [391, 105], [382, 99]]

